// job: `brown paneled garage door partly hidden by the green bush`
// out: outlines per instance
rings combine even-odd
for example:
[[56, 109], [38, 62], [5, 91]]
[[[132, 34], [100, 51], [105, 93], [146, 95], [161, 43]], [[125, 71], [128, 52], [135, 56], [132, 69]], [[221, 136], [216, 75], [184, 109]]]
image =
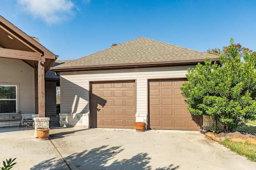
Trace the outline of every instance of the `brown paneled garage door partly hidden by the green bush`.
[[200, 130], [202, 119], [189, 113], [180, 94], [184, 79], [149, 81], [150, 128]]

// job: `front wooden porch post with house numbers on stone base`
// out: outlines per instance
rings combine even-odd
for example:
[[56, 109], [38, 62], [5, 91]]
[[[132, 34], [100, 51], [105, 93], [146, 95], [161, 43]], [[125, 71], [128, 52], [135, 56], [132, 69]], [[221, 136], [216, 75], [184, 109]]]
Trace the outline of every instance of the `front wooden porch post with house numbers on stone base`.
[[44, 64], [38, 63], [38, 117], [45, 117]]

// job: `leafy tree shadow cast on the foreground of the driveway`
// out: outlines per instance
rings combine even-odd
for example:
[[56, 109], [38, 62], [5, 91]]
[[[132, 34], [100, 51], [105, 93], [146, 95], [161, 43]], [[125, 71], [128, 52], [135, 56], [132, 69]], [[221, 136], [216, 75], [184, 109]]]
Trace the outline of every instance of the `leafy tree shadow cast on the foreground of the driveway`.
[[[119, 147], [110, 147], [103, 145], [102, 147], [91, 150], [84, 150], [80, 153], [74, 153], [63, 160], [50, 159], [39, 163], [31, 168], [31, 170], [151, 170], [149, 162], [151, 160], [147, 153], [139, 153], [131, 159], [112, 160], [114, 156], [122, 152], [124, 149]], [[64, 166], [63, 161], [66, 163]], [[112, 163], [108, 163], [108, 162]], [[168, 167], [156, 168], [156, 170], [176, 170], [179, 166], [170, 164]]]

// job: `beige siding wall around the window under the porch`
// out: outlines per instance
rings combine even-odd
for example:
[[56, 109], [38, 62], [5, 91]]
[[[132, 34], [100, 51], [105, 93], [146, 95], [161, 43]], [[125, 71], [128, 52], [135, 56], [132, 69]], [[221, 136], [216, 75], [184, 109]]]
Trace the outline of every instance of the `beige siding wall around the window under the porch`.
[[35, 113], [34, 68], [18, 59], [0, 57], [0, 84], [18, 85], [18, 109]]

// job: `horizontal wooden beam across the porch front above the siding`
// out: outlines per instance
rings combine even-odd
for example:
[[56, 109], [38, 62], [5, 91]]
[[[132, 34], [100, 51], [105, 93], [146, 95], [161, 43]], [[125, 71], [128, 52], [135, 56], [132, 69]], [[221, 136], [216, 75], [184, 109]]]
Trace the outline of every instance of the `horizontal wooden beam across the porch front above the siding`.
[[0, 48], [0, 57], [40, 61], [40, 55], [38, 55], [38, 53], [36, 52], [21, 51], [21, 50], [14, 50], [14, 49]]

